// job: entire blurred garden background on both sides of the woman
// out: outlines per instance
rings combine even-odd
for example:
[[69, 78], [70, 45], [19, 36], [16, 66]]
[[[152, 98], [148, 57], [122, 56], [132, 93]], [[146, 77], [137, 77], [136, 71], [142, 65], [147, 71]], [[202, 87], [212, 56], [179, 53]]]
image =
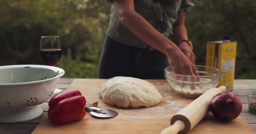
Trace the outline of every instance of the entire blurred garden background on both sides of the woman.
[[[206, 41], [238, 41], [236, 79], [256, 78], [256, 1], [192, 0], [186, 27], [196, 63], [205, 65]], [[106, 0], [0, 0], [0, 65], [44, 64], [40, 38], [59, 35], [56, 67], [66, 78], [95, 78], [110, 19]]]

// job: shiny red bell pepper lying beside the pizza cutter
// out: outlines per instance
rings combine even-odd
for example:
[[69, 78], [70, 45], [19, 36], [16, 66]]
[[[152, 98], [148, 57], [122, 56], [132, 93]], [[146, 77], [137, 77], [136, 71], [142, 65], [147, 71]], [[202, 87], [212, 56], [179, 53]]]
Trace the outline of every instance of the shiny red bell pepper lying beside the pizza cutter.
[[86, 100], [78, 90], [56, 94], [49, 101], [48, 118], [58, 124], [83, 119], [85, 104]]

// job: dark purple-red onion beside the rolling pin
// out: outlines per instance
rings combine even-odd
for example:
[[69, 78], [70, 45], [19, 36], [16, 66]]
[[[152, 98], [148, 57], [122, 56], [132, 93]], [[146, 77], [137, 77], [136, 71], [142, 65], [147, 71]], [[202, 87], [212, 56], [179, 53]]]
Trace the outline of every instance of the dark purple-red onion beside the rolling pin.
[[242, 112], [240, 99], [229, 93], [219, 93], [214, 96], [209, 108], [214, 116], [223, 121], [236, 119]]

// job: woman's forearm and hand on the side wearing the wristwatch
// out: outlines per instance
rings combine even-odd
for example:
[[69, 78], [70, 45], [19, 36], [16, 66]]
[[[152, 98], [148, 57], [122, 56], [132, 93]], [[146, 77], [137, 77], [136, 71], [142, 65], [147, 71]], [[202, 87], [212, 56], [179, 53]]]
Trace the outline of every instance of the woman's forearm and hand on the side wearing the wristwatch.
[[[173, 25], [173, 39], [174, 42], [179, 42], [181, 39], [188, 40], [188, 34], [185, 27], [185, 13], [178, 12], [177, 21]], [[179, 45], [181, 51], [189, 58], [189, 60], [194, 63], [196, 56], [192, 51], [192, 48], [187, 44], [187, 42], [181, 42]]]

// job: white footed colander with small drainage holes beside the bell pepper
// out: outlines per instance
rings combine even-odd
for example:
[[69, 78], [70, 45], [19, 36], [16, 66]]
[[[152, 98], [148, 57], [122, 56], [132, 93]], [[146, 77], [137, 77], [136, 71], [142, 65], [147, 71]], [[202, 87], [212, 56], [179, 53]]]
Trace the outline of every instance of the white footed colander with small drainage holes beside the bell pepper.
[[[64, 74], [63, 69], [52, 66], [0, 66], [0, 123], [19, 123], [42, 115], [37, 105], [53, 95], [57, 79]], [[44, 75], [47, 79], [41, 80]]]

